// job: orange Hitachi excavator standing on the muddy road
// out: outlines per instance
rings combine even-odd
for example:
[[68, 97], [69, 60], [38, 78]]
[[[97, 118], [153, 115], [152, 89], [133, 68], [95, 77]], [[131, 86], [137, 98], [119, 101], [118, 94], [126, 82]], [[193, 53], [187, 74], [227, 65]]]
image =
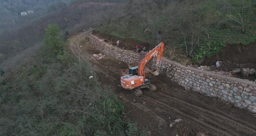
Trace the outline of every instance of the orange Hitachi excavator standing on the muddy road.
[[164, 43], [161, 42], [153, 50], [149, 51], [145, 57], [140, 61], [138, 66], [129, 68], [129, 73], [127, 75], [121, 76], [121, 85], [123, 88], [128, 90], [133, 90], [135, 96], [142, 96], [142, 88], [148, 88], [150, 91], [156, 91], [157, 87], [150, 83], [148, 79], [145, 78], [144, 66], [146, 63], [157, 55], [156, 61], [156, 71], [150, 73], [154, 75], [159, 74], [159, 68], [164, 52]]

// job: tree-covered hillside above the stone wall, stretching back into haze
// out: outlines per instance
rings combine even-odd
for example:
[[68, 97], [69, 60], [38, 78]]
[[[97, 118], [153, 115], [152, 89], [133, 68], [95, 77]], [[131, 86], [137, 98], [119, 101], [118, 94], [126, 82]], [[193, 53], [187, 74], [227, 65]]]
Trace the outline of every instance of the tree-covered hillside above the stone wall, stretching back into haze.
[[[58, 24], [70, 34], [88, 27], [99, 27], [98, 30], [102, 33], [134, 38], [152, 45], [164, 41], [170, 48], [181, 48], [195, 63], [218, 54], [227, 44], [248, 45], [256, 40], [255, 0], [110, 2], [77, 0], [67, 1], [67, 4], [48, 4], [43, 10], [43, 13], [48, 14], [26, 22], [18, 30], [9, 30], [1, 35], [3, 38], [0, 43], [4, 49], [0, 52], [2, 58], [8, 56], [8, 52], [13, 54], [24, 49], [23, 47], [32, 46], [34, 41], [42, 40], [45, 27], [51, 23]], [[12, 1], [2, 3], [5, 9], [8, 9], [8, 4], [18, 5]], [[34, 5], [31, 9], [41, 9], [35, 6], [40, 2], [26, 4], [28, 7]], [[24, 8], [22, 6], [18, 9], [21, 11]], [[17, 11], [13, 11], [13, 14], [17, 14]], [[20, 19], [26, 20], [29, 17]]]

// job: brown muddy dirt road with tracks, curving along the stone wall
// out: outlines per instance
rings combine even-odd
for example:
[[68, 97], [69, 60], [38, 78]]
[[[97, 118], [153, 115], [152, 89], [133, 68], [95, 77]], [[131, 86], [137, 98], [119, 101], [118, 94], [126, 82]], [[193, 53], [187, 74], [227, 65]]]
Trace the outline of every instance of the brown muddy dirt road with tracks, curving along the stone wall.
[[[121, 71], [128, 68], [127, 64], [112, 57], [90, 60], [92, 54], [99, 52], [88, 43], [80, 42], [90, 32], [74, 36], [68, 49], [96, 70], [103, 85], [113, 86], [115, 94], [125, 103], [124, 119], [136, 121], [141, 129], [149, 131], [148, 135], [196, 135], [198, 132], [216, 136], [256, 135], [256, 117], [249, 111], [185, 90], [164, 75], [150, 78], [157, 86], [156, 92], [143, 90], [141, 97], [131, 95], [120, 86]], [[179, 118], [182, 121], [169, 128], [172, 120]]]

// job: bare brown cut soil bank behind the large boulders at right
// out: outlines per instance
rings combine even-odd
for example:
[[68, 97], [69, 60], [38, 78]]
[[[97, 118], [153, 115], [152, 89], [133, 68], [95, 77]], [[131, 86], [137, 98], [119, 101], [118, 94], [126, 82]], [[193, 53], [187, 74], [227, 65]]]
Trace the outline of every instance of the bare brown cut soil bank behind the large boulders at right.
[[[213, 67], [212, 70], [217, 71], [231, 71], [235, 68], [249, 68], [256, 69], [256, 42], [249, 45], [230, 45], [228, 44], [222, 49], [222, 52], [211, 58], [206, 58], [201, 65], [215, 65], [216, 61], [222, 61], [219, 68]], [[254, 81], [256, 75], [249, 75], [248, 77], [242, 77], [240, 74], [234, 75], [234, 77], [248, 79]]]

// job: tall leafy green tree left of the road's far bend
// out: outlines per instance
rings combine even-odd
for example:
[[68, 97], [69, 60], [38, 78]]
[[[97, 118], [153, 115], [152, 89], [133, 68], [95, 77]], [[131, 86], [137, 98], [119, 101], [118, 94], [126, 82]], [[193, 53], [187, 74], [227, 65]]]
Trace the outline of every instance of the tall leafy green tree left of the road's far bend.
[[52, 50], [55, 55], [61, 55], [63, 52], [64, 41], [62, 35], [60, 34], [60, 29], [57, 25], [49, 25], [45, 29], [44, 44], [45, 46]]

